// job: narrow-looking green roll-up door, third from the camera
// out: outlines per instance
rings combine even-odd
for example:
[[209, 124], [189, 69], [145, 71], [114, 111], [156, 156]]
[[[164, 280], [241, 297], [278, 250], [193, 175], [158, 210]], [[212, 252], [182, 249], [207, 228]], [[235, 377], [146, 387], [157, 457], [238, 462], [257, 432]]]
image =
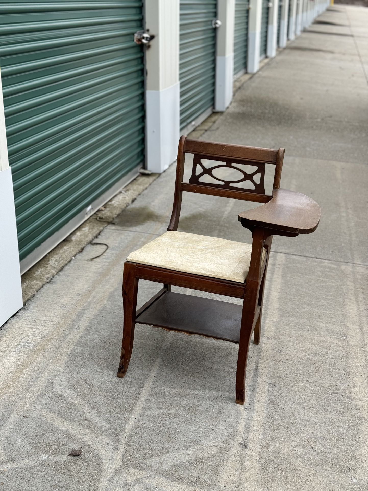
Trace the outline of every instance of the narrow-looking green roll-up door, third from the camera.
[[249, 0], [236, 0], [234, 25], [234, 75], [247, 67]]

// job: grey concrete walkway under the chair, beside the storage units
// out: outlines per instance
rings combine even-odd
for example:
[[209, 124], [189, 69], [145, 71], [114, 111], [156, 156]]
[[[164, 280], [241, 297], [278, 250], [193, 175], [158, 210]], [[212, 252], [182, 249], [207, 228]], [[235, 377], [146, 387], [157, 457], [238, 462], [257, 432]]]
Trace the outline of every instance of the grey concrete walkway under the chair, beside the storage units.
[[[367, 73], [368, 9], [332, 7], [203, 136], [284, 146], [282, 187], [322, 209], [274, 239], [245, 406], [237, 346], [199, 336], [138, 326], [116, 378], [122, 265], [166, 230], [172, 166], [3, 327], [1, 490], [368, 489]], [[188, 193], [180, 229], [249, 242], [244, 209]]]

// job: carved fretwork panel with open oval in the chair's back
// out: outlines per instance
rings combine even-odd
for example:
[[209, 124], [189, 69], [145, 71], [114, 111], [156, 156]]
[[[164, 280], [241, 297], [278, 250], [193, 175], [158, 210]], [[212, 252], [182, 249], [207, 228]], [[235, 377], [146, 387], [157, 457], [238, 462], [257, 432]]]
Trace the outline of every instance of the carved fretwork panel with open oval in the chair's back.
[[265, 194], [264, 172], [264, 163], [194, 154], [189, 184]]

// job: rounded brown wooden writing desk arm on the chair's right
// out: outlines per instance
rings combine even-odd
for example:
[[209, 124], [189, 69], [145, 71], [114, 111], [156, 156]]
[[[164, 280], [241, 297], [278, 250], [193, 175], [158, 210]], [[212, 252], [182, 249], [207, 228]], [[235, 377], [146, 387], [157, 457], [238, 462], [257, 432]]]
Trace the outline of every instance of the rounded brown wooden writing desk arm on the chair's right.
[[268, 203], [242, 212], [243, 227], [271, 229], [274, 235], [310, 234], [318, 226], [321, 210], [317, 203], [300, 192], [274, 189]]

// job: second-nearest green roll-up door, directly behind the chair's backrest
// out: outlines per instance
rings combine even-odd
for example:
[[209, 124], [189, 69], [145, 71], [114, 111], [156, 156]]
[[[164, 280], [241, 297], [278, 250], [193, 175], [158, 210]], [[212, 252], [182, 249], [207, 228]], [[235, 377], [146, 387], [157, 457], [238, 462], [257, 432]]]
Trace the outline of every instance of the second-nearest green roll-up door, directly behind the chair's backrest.
[[216, 0], [180, 1], [180, 127], [214, 103]]

